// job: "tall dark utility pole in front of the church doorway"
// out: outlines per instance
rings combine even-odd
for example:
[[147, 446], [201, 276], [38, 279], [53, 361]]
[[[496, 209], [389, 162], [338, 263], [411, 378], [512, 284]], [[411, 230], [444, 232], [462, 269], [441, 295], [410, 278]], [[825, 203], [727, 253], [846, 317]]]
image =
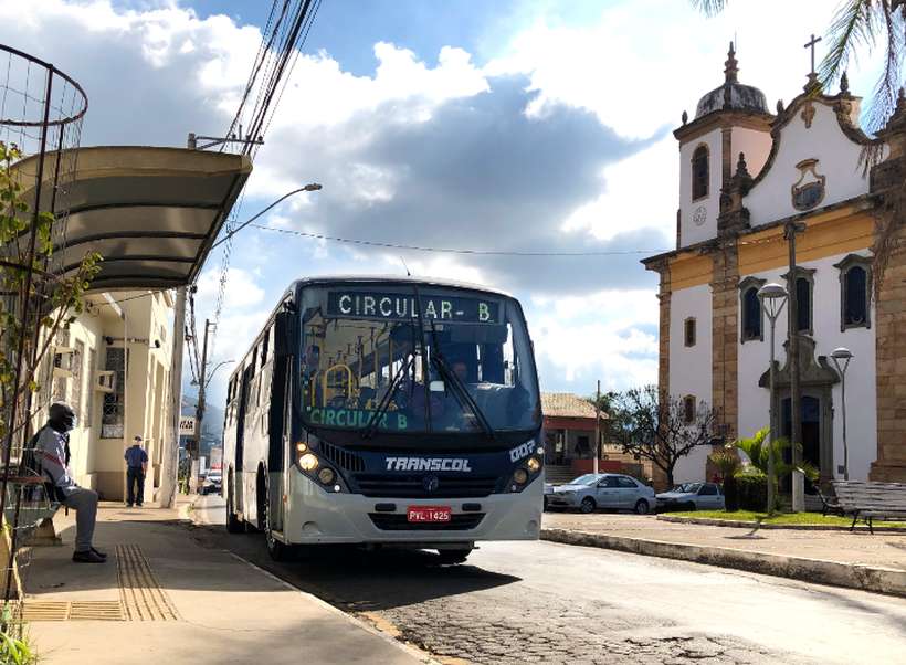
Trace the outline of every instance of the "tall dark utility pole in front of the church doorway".
[[[792, 509], [802, 513], [805, 509], [805, 478], [797, 471], [802, 466], [802, 394], [799, 381], [799, 298], [797, 297], [797, 265], [796, 265], [796, 235], [803, 233], [805, 224], [788, 222], [783, 229], [783, 238], [790, 251], [789, 273], [787, 273], [787, 293], [790, 298], [789, 307], [789, 345], [787, 365], [790, 368], [790, 442], [792, 445]], [[782, 410], [781, 410], [782, 412]]]

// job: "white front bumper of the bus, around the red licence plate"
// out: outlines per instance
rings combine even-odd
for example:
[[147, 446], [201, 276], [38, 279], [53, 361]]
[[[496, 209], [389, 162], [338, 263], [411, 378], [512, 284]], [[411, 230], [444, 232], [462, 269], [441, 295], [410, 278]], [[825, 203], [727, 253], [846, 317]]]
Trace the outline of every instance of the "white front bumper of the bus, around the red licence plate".
[[[522, 493], [476, 498], [392, 498], [328, 494], [306, 478], [287, 496], [283, 525], [291, 545], [471, 543], [481, 540], [537, 540], [541, 527], [544, 482]], [[391, 509], [392, 506], [392, 509]], [[411, 525], [411, 506], [449, 507], [451, 521]]]

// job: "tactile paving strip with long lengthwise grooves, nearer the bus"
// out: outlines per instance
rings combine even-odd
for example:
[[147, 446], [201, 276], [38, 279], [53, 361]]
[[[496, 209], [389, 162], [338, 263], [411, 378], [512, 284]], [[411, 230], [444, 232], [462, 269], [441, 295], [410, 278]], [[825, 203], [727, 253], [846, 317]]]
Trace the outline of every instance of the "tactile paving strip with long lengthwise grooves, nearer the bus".
[[176, 606], [137, 545], [116, 546], [116, 572], [127, 621], [179, 621]]

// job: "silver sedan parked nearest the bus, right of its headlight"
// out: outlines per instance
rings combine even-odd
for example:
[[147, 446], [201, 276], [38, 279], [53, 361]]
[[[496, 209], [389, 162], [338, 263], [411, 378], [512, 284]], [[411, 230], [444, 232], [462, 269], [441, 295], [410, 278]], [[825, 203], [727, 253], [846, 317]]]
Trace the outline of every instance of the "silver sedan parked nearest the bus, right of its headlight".
[[646, 515], [656, 505], [654, 489], [622, 474], [584, 474], [552, 487], [545, 498], [548, 508], [572, 508], [582, 513], [608, 508]]

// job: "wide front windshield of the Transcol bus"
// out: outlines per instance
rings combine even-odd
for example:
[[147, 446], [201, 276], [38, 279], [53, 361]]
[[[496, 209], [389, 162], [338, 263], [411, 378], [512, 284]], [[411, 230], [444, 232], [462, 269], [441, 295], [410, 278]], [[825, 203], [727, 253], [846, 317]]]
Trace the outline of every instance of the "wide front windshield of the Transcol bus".
[[531, 345], [512, 298], [389, 283], [309, 286], [302, 300], [308, 424], [365, 437], [493, 437], [540, 424]]

